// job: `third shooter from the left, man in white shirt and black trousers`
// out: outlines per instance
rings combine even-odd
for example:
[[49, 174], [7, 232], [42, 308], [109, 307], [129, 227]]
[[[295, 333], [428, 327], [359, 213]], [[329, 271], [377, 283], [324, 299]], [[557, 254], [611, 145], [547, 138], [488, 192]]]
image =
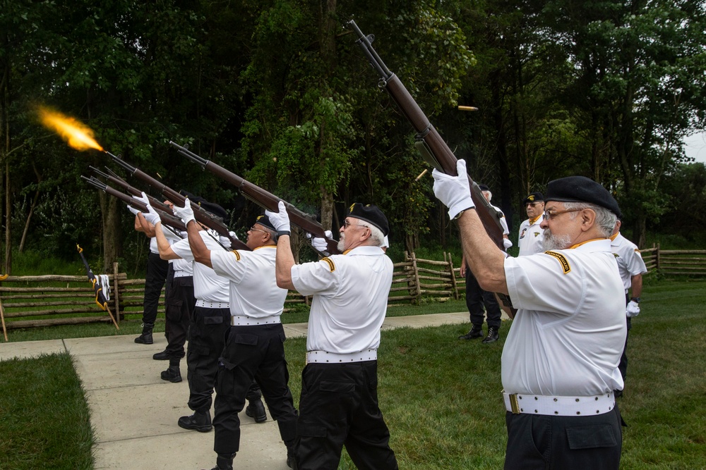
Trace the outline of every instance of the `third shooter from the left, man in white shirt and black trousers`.
[[[225, 217], [226, 212], [221, 206], [200, 199], [199, 205], [217, 217]], [[191, 206], [189, 206], [191, 209]], [[174, 214], [183, 210], [174, 206]], [[192, 212], [193, 214], [193, 212]], [[226, 251], [222, 246], [227, 239], [219, 240], [218, 234], [196, 225], [196, 236], [200, 237], [210, 249]], [[189, 346], [186, 348], [186, 379], [189, 381], [189, 408], [193, 410], [190, 416], [181, 416], [177, 424], [184, 429], [193, 429], [202, 433], [210, 431], [211, 404], [213, 389], [218, 369], [218, 358], [223, 350], [225, 331], [230, 326], [229, 282], [218, 276], [213, 269], [200, 263], [193, 263], [188, 236], [185, 240], [166, 247], [162, 256], [167, 259], [185, 259], [193, 265], [193, 293], [196, 306], [189, 323]], [[265, 407], [260, 400], [260, 390], [251, 383], [248, 399], [250, 406], [261, 421]], [[266, 419], [266, 416], [265, 416]]]

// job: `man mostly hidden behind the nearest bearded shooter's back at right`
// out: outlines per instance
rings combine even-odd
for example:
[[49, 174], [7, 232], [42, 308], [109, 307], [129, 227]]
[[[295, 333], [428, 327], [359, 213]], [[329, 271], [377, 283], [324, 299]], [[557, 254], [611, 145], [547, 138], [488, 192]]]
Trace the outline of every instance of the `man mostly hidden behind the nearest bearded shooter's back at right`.
[[[645, 261], [642, 261], [642, 255], [640, 254], [640, 249], [638, 249], [637, 245], [621, 235], [621, 225], [622, 221], [618, 219], [616, 222], [615, 231], [611, 237], [611, 249], [616, 257], [616, 261], [618, 261], [618, 271], [620, 272], [620, 277], [623, 280], [623, 287], [625, 287], [625, 316], [626, 323], [628, 325], [628, 334], [625, 337], [623, 355], [621, 356], [620, 364], [618, 365], [618, 369], [620, 369], [624, 383], [625, 376], [628, 371], [628, 335], [630, 335], [630, 328], [633, 328], [630, 324], [630, 319], [633, 316], [638, 316], [640, 314], [642, 274], [647, 273], [647, 266], [645, 266]], [[631, 295], [628, 294], [630, 290], [632, 290]], [[621, 397], [622, 395], [623, 390], [616, 390], [617, 397]]]

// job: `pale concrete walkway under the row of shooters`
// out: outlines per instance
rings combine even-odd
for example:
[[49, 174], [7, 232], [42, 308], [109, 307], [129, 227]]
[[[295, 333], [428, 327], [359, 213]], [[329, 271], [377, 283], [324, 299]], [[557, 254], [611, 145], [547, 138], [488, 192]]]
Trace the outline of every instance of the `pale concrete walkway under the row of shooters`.
[[[391, 317], [383, 330], [410, 326], [441, 326], [468, 323], [468, 313]], [[285, 325], [288, 338], [306, 336], [306, 323]], [[88, 397], [95, 431], [95, 469], [194, 470], [215, 465], [213, 431], [198, 433], [177, 426], [179, 416], [191, 414], [186, 407], [189, 385], [186, 363], [184, 381], [162, 381], [167, 361], [152, 360], [167, 340], [155, 335], [155, 344], [136, 345], [134, 335], [68, 340], [3, 342], [0, 361], [13, 357], [37, 357], [67, 351]], [[213, 411], [212, 411], [213, 415]], [[188, 451], [185, 451], [188, 449]], [[241, 446], [238, 469], [287, 470], [285, 445], [277, 423], [255, 423], [241, 414]]]

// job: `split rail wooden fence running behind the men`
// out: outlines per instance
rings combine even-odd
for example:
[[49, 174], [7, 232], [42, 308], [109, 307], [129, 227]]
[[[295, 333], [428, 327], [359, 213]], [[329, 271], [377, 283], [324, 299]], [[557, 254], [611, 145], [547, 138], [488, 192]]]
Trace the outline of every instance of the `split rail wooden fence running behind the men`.
[[[439, 301], [459, 299], [465, 293], [465, 279], [457, 266], [460, 259], [454, 262], [450, 253], [443, 256], [443, 261], [439, 261], [405, 253], [405, 261], [394, 265], [388, 306], [418, 304], [424, 297]], [[706, 250], [662, 250], [655, 245], [642, 250], [642, 259], [648, 273], [706, 276]], [[128, 279], [114, 264], [109, 283], [108, 305], [116, 320], [140, 319], [145, 280]], [[289, 292], [285, 309], [296, 304], [309, 305], [309, 298]], [[163, 302], [159, 311], [164, 312]], [[3, 330], [111, 321], [107, 311], [95, 303], [86, 276], [9, 276], [0, 282], [0, 314]]]

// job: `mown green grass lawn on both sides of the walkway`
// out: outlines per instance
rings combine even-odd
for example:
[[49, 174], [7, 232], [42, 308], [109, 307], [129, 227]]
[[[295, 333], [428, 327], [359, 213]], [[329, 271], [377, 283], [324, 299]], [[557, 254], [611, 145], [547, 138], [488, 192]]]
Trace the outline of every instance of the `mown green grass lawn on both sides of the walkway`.
[[[465, 310], [450, 302], [393, 307], [390, 314]], [[706, 469], [706, 281], [650, 280], [640, 307], [619, 401], [628, 423], [621, 468]], [[509, 327], [503, 323], [501, 340], [491, 345], [457, 340], [465, 324], [383, 332], [379, 398], [401, 469], [502, 468], [500, 361]], [[285, 346], [296, 401], [306, 341]], [[0, 378], [0, 469], [90, 469], [88, 412], [68, 357], [0, 362]], [[37, 389], [37, 381], [46, 386]], [[64, 460], [49, 460], [59, 457], [50, 451], [57, 448]], [[354, 469], [345, 455], [340, 469]]]

